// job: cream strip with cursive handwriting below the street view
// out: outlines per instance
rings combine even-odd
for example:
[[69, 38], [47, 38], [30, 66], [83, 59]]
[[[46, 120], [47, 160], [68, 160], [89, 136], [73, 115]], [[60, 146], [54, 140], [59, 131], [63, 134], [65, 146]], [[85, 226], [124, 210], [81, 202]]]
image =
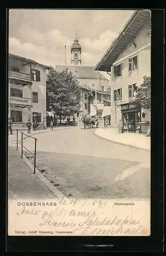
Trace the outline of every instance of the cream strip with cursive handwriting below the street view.
[[[25, 223], [27, 223], [26, 232], [32, 229], [29, 231], [31, 234], [47, 232], [49, 235], [60, 233], [64, 235], [66, 232], [70, 236], [150, 235], [150, 217], [147, 218], [150, 216], [150, 207], [148, 202], [144, 201], [124, 204], [128, 206], [118, 206], [114, 200], [69, 200], [64, 197], [57, 202], [56, 206], [27, 206], [26, 204], [16, 206], [14, 202], [12, 205], [15, 212], [15, 229], [22, 230], [22, 227], [25, 229]], [[11, 206], [9, 210], [12, 210]]]

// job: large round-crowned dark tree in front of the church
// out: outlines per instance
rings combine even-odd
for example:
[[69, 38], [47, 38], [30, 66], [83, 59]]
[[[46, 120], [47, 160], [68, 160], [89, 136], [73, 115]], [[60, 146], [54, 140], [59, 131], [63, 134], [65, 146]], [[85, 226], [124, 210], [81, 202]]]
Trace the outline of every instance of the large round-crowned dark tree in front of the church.
[[74, 115], [80, 110], [80, 99], [79, 83], [73, 73], [68, 69], [61, 72], [50, 69], [46, 81], [47, 111], [60, 117]]

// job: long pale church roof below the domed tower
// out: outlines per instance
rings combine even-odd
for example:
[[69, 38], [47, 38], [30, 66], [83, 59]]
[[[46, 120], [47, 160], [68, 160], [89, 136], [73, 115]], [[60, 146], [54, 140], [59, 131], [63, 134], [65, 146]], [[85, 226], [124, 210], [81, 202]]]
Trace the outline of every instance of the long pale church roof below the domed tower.
[[[109, 81], [105, 76], [100, 74], [98, 71], [94, 70], [94, 67], [90, 66], [66, 66], [69, 71], [72, 71], [73, 75], [75, 75], [76, 78], [93, 78], [93, 79], [103, 79]], [[56, 66], [56, 71], [61, 72], [63, 69], [65, 69], [65, 66]]]

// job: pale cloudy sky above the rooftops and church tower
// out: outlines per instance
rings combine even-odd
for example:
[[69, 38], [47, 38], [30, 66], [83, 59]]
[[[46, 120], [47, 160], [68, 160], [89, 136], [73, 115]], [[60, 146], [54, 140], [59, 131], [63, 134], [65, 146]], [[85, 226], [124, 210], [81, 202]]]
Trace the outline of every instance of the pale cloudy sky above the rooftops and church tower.
[[82, 48], [82, 66], [95, 67], [121, 32], [133, 10], [9, 11], [9, 52], [44, 65], [71, 65], [75, 33]]

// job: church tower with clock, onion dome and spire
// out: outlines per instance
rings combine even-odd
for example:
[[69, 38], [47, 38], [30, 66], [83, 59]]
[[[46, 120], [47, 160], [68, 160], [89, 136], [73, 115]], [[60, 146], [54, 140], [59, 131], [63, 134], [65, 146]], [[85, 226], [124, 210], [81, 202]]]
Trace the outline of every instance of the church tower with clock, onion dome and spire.
[[81, 65], [81, 46], [77, 39], [77, 32], [76, 32], [76, 38], [74, 40], [74, 43], [71, 47], [71, 53], [72, 53], [72, 60], [71, 63], [74, 66], [80, 66]]

